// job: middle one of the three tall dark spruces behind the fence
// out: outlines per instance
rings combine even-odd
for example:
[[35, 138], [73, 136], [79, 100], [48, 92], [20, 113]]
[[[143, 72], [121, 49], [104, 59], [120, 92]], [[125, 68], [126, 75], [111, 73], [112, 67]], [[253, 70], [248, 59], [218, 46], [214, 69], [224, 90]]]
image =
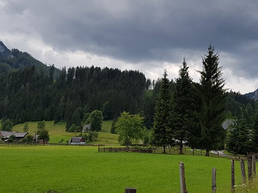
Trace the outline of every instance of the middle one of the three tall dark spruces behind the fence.
[[193, 92], [192, 78], [189, 75], [189, 67], [185, 58], [179, 69], [179, 76], [176, 79], [176, 89], [173, 93], [171, 127], [174, 138], [178, 140], [180, 153], [183, 153], [183, 141], [193, 125]]

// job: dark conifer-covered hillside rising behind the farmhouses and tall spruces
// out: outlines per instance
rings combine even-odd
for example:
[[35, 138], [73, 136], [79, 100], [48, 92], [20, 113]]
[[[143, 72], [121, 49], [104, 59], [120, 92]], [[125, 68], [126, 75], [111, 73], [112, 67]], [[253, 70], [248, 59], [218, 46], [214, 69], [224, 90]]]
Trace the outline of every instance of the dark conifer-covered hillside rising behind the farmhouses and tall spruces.
[[[83, 115], [101, 110], [104, 119], [121, 112], [140, 113], [145, 126], [153, 125], [161, 80], [146, 79], [139, 71], [100, 67], [65, 67], [60, 71], [0, 42], [0, 119], [13, 123], [55, 120], [81, 125]], [[176, 83], [170, 81], [174, 92]], [[198, 88], [198, 83], [193, 83]], [[151, 89], [150, 89], [151, 88]], [[226, 94], [226, 112], [251, 124], [254, 100], [240, 93]], [[198, 104], [195, 104], [198, 106]]]

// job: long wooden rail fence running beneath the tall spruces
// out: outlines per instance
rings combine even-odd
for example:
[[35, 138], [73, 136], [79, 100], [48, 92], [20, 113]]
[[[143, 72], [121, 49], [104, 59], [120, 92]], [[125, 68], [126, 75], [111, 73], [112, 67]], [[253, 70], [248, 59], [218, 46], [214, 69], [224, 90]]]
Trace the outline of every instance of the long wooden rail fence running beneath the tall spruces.
[[[179, 149], [177, 148], [166, 148], [165, 151], [161, 148], [134, 148], [134, 147], [98, 147], [98, 152], [139, 152], [139, 153], [166, 153], [166, 154], [180, 154]], [[195, 156], [205, 156], [206, 152], [202, 151], [191, 151], [186, 148], [183, 149], [183, 155], [195, 155]], [[213, 154], [210, 153], [210, 157], [217, 158], [226, 158], [226, 159], [234, 159], [234, 160], [247, 160], [247, 156], [245, 155], [225, 155], [225, 154]]]

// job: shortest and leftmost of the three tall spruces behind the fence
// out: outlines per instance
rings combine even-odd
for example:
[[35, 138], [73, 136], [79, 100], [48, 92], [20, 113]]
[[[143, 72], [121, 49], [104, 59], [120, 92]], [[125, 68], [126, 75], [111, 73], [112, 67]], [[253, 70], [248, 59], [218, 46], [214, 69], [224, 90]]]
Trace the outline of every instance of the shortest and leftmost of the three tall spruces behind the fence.
[[167, 145], [173, 145], [172, 131], [169, 120], [171, 100], [169, 85], [167, 71], [165, 70], [161, 79], [159, 99], [156, 101], [154, 124], [152, 128], [152, 143], [155, 146], [163, 147], [164, 153]]

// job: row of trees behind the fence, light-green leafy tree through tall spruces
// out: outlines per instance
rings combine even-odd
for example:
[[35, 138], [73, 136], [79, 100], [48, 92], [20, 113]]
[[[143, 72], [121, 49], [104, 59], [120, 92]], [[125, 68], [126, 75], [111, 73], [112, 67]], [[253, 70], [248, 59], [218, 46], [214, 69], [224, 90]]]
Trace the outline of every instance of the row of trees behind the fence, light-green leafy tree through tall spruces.
[[[178, 145], [182, 153], [183, 145], [188, 145], [193, 149], [206, 149], [207, 156], [211, 149], [226, 148], [229, 152], [241, 154], [257, 152], [258, 103], [255, 114], [250, 113], [253, 109], [251, 103], [240, 112], [230, 112], [226, 106], [230, 95], [238, 97], [237, 100], [248, 100], [238, 93], [226, 92], [219, 55], [214, 53], [213, 46], [209, 46], [202, 64], [202, 71], [198, 71], [200, 83], [193, 82], [185, 58], [175, 83], [169, 81], [164, 71], [149, 139], [143, 129], [144, 118], [140, 114], [124, 112], [112, 125], [112, 131], [119, 134], [119, 141], [129, 145], [130, 139], [145, 141], [147, 138], [147, 143], [163, 147], [164, 152], [167, 146]], [[231, 121], [228, 128], [223, 128], [225, 119]]]

